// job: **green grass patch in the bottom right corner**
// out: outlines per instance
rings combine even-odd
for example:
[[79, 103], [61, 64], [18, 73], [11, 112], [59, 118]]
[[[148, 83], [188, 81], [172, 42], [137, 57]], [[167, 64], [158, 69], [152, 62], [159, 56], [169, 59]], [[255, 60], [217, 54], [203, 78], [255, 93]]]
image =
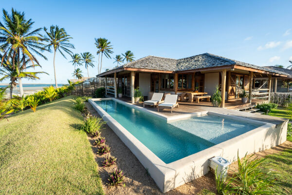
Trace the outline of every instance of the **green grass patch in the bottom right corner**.
[[278, 174], [279, 184], [275, 186], [280, 195], [292, 194], [292, 148], [281, 153], [266, 156], [269, 167]]

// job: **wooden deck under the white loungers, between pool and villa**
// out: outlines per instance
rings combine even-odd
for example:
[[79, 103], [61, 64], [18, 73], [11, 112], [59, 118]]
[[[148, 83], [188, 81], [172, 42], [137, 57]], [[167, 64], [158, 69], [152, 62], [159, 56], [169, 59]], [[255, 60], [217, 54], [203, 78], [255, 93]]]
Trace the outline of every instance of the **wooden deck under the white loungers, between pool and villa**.
[[[131, 103], [130, 98], [118, 98], [118, 99]], [[237, 111], [233, 109], [228, 109], [228, 108], [234, 108], [238, 105], [241, 106], [242, 105], [241, 99], [226, 101], [225, 106], [228, 106], [227, 108], [216, 108], [212, 106], [211, 102], [206, 102], [206, 101], [201, 101], [199, 104], [194, 103], [194, 102], [193, 103], [181, 102], [181, 101], [178, 101], [178, 102], [179, 102], [179, 108], [178, 107], [174, 108], [172, 110], [172, 113], [170, 113], [170, 109], [167, 109], [167, 108], [165, 109], [160, 108], [159, 112], [167, 117], [167, 116], [175, 116], [175, 115], [196, 113], [196, 112], [202, 112], [202, 111], [211, 111], [211, 112], [217, 112], [224, 115], [246, 117], [246, 118], [250, 118], [254, 120], [273, 123], [276, 125], [281, 124], [287, 120], [285, 118], [271, 117], [267, 115], [260, 115], [256, 113], [247, 113], [247, 112]], [[254, 103], [257, 103], [257, 102], [260, 102], [260, 101], [254, 101]], [[143, 103], [139, 103], [135, 105], [143, 107]], [[246, 104], [244, 106], [246, 106]], [[145, 108], [148, 110], [157, 112], [157, 107], [154, 108], [153, 106], [146, 105]]]

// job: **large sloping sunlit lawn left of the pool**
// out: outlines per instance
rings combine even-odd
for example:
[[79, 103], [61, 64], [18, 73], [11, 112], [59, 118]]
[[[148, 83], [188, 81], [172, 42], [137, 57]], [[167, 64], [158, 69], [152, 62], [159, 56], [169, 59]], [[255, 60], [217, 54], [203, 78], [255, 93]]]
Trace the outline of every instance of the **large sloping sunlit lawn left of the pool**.
[[61, 98], [0, 121], [0, 194], [102, 195], [80, 112]]

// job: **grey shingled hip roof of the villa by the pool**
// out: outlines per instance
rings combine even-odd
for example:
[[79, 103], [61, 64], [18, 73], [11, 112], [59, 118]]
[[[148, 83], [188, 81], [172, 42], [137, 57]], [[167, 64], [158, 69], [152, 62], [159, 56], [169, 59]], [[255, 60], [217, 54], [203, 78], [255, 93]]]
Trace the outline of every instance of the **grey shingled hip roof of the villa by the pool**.
[[[253, 64], [237, 61], [234, 59], [227, 59], [221, 56], [216, 56], [209, 53], [204, 53], [183, 59], [170, 59], [156, 56], [147, 56], [145, 58], [138, 59], [136, 61], [129, 62], [120, 68], [141, 68], [149, 70], [161, 70], [161, 71], [185, 71], [185, 70], [196, 70], [210, 67], [219, 67], [226, 65], [239, 65], [248, 68], [254, 68], [262, 71], [272, 72], [281, 75], [289, 75], [281, 70], [271, 69], [269, 67], [261, 67]], [[112, 69], [112, 70], [114, 70]], [[110, 71], [112, 71], [110, 70]]]

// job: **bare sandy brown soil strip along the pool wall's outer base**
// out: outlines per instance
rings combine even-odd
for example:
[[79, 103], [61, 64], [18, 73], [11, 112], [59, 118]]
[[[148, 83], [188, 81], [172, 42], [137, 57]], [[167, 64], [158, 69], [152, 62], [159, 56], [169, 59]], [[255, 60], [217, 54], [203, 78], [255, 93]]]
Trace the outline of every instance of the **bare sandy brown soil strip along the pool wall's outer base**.
[[[86, 103], [86, 106], [91, 112], [91, 115], [100, 117], [91, 104]], [[93, 145], [94, 139], [89, 137], [95, 160], [99, 166], [99, 174], [103, 182], [103, 188], [107, 195], [163, 195], [151, 176], [147, 175], [147, 171], [140, 161], [132, 154], [128, 147], [119, 137], [116, 136], [108, 125], [105, 125], [105, 128], [101, 131], [101, 136], [106, 138], [106, 144], [110, 146], [110, 156], [115, 156], [117, 158], [116, 165], [102, 167], [102, 161], [107, 155], [97, 155], [97, 148]], [[292, 148], [292, 142], [286, 141], [280, 146], [256, 153], [255, 156], [263, 157], [269, 154], [279, 153], [286, 148]], [[233, 170], [236, 169], [236, 163], [237, 162], [233, 162], [231, 165]], [[121, 169], [125, 174], [125, 187], [107, 186], [109, 173], [116, 168]], [[205, 176], [201, 176], [198, 179], [185, 183], [184, 185], [165, 193], [165, 195], [197, 195], [203, 189], [209, 190], [213, 193], [216, 192], [213, 173], [209, 172]]]

